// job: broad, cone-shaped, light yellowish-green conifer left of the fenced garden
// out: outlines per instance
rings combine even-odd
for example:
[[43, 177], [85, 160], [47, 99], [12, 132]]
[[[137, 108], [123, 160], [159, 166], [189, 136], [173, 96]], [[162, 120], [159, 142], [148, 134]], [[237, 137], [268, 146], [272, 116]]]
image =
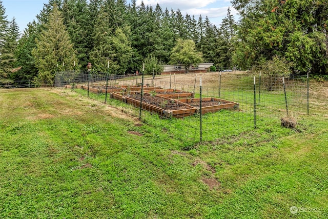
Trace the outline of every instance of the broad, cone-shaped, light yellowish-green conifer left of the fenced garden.
[[45, 30], [36, 39], [37, 47], [32, 51], [38, 69], [38, 81], [53, 84], [57, 70], [73, 70], [73, 63], [77, 63], [76, 51], [63, 21], [61, 12], [54, 5]]

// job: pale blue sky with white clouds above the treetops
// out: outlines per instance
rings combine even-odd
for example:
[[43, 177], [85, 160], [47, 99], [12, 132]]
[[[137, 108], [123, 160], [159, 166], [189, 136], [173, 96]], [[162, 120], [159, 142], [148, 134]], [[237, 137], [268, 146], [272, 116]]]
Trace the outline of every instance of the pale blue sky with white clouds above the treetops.
[[[7, 20], [11, 21], [13, 17], [19, 26], [20, 32], [27, 27], [29, 22], [36, 19], [36, 15], [43, 9], [44, 3], [49, 0], [0, 0], [6, 9]], [[137, 0], [140, 4], [142, 0]], [[127, 3], [130, 3], [127, 0]], [[199, 15], [203, 18], [208, 16], [212, 24], [219, 26], [222, 18], [227, 16], [228, 7], [231, 8], [231, 13], [237, 17], [237, 11], [232, 8], [230, 0], [144, 0], [145, 5], [156, 6], [158, 3], [162, 10], [165, 8], [171, 10], [180, 9], [183, 16], [188, 13], [195, 15], [198, 19]]]

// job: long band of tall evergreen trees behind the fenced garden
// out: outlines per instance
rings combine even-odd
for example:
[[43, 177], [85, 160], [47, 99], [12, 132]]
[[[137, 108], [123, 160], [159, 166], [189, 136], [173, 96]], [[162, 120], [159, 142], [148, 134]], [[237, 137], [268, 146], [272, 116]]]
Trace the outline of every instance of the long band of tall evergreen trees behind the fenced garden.
[[[164, 64], [211, 62], [243, 69], [283, 60], [297, 73], [328, 74], [328, 4], [233, 0], [219, 27], [209, 18], [132, 0], [49, 0], [22, 34], [0, 1], [0, 79], [53, 81], [61, 70], [124, 74]], [[275, 57], [275, 58], [274, 58]], [[188, 62], [186, 62], [188, 59]]]

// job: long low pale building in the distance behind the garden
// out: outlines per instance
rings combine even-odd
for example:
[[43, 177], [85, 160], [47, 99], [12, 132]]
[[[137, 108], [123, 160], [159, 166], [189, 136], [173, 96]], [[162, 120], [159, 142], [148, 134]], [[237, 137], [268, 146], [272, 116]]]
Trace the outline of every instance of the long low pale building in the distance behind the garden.
[[[207, 72], [207, 70], [211, 66], [213, 66], [213, 63], [200, 63], [198, 66], [191, 65], [189, 68], [189, 73]], [[164, 70], [163, 70], [162, 74], [186, 73], [185, 66], [183, 66], [183, 65], [165, 65], [163, 67], [164, 67]]]

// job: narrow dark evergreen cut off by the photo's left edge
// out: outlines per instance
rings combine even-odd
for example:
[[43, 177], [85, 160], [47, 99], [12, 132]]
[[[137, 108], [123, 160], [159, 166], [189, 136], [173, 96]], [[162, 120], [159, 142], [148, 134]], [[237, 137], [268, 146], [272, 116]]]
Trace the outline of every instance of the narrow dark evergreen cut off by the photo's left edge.
[[8, 78], [15, 68], [15, 50], [20, 33], [13, 17], [5, 32], [3, 47], [0, 49], [0, 76]]

